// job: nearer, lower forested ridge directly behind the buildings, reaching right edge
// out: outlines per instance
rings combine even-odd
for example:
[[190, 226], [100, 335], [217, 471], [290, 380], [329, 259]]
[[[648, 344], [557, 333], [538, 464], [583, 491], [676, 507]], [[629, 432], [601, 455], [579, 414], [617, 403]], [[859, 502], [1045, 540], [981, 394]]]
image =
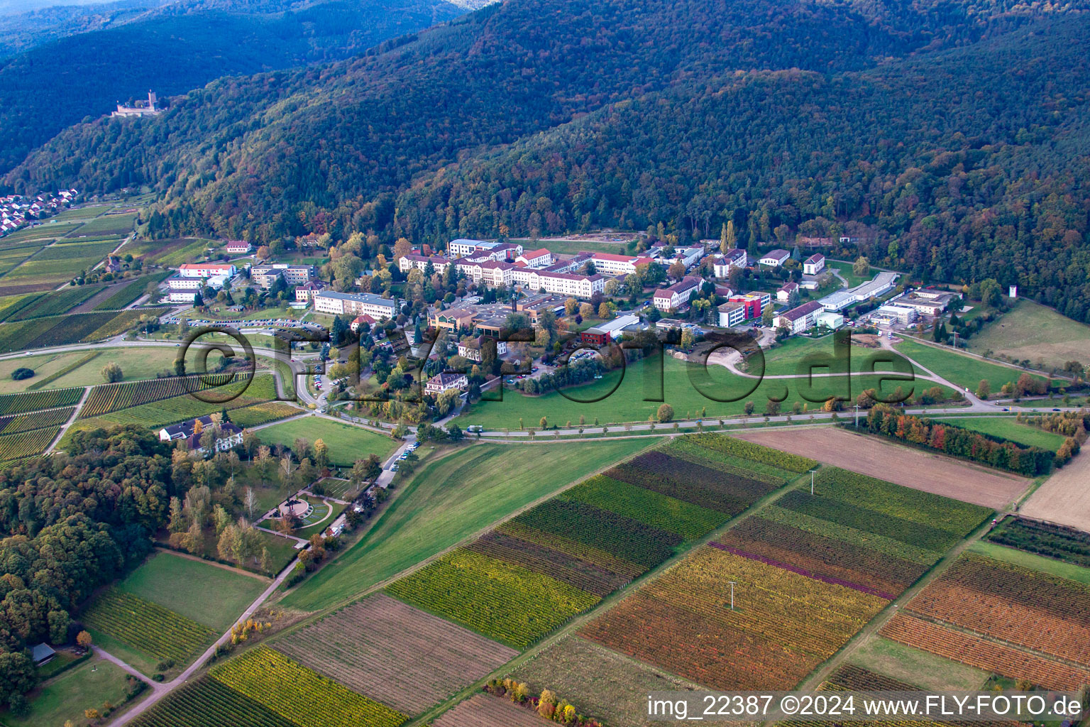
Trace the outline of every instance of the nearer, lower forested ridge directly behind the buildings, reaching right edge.
[[1090, 322], [1088, 47], [1090, 23], [1065, 19], [863, 72], [647, 95], [428, 175], [399, 196], [400, 231], [674, 220], [717, 238], [729, 210], [743, 240], [773, 241], [861, 220], [872, 262], [1019, 284]]

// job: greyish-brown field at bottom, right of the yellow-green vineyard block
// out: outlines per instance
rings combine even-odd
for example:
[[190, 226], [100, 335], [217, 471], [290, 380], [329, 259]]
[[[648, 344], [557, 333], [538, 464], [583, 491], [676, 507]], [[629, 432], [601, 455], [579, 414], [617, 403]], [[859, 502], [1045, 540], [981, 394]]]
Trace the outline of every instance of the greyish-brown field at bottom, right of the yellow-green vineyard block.
[[276, 647], [407, 714], [423, 712], [518, 654], [384, 594], [290, 633]]

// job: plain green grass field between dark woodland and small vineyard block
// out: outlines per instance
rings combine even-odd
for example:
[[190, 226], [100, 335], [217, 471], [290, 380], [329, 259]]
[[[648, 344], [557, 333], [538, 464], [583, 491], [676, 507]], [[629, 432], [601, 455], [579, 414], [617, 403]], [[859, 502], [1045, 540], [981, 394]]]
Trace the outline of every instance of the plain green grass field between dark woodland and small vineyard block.
[[[119, 587], [222, 631], [261, 595], [267, 582], [172, 553], [158, 553]], [[195, 592], [208, 597], [194, 598]]]

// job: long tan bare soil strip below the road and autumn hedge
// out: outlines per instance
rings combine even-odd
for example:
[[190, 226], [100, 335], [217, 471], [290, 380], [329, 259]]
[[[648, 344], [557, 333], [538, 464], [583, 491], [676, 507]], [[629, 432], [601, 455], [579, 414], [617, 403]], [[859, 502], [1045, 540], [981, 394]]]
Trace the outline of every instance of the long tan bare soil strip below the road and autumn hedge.
[[990, 508], [1005, 507], [1029, 486], [1029, 481], [1024, 477], [839, 427], [758, 429], [731, 434], [886, 482]]

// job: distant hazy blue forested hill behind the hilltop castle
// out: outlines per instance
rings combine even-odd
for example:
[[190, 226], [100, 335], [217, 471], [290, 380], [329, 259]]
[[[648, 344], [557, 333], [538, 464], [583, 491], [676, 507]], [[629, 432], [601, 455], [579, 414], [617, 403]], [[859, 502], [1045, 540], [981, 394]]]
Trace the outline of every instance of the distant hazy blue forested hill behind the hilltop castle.
[[[119, 27], [80, 33], [0, 62], [0, 170], [118, 100], [184, 94], [225, 75], [348, 58], [457, 17], [445, 0], [174, 3]], [[89, 120], [89, 119], [86, 119]]]

